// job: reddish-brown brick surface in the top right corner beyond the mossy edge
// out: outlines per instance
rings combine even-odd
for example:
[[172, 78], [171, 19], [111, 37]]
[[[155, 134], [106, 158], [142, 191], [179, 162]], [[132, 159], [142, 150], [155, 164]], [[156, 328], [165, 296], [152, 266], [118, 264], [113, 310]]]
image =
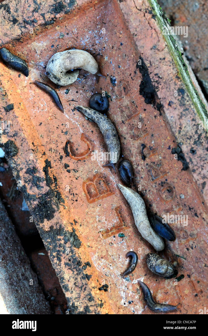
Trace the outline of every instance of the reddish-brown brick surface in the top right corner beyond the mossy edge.
[[171, 20], [171, 26], [188, 27], [188, 37], [181, 40], [185, 54], [197, 78], [202, 82], [208, 95], [208, 5], [205, 0], [158, 0]]

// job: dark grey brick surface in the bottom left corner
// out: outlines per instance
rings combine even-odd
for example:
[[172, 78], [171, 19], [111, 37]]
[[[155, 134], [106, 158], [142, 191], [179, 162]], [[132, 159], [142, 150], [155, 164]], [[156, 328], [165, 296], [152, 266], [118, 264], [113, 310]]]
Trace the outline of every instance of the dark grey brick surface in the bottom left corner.
[[10, 314], [51, 313], [1, 200], [0, 294]]

